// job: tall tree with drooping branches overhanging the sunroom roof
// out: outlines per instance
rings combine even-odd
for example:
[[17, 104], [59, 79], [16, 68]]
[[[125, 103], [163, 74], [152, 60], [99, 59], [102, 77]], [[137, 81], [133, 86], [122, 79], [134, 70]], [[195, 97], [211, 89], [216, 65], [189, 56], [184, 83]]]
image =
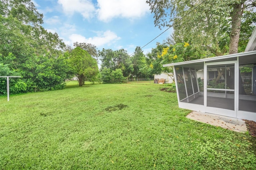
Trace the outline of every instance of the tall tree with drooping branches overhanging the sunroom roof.
[[[154, 13], [155, 26], [174, 25], [174, 36], [183, 41], [210, 48], [223, 55], [225, 43], [229, 53], [238, 52], [240, 26], [244, 11], [252, 12], [255, 0], [147, 0]], [[192, 10], [193, 9], [193, 10]], [[189, 13], [190, 12], [190, 13]], [[229, 35], [226, 30], [230, 30]], [[229, 37], [229, 40], [227, 38]], [[224, 44], [224, 46], [220, 46]]]

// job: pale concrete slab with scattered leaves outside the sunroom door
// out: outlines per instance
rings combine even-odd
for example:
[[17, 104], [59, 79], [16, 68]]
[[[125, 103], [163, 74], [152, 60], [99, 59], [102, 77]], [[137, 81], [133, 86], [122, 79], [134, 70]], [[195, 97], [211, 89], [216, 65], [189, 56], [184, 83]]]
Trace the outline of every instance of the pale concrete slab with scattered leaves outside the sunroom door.
[[210, 113], [201, 113], [196, 111], [191, 112], [186, 117], [188, 119], [192, 119], [202, 123], [208, 123], [213, 126], [226, 128], [236, 132], [245, 133], [247, 131], [245, 121], [243, 121], [242, 119], [214, 115]]

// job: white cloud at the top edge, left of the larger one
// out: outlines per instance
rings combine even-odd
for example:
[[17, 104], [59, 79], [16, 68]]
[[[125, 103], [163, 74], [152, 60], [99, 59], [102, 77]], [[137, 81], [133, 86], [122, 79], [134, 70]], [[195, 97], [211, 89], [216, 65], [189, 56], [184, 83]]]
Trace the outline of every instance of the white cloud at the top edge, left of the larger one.
[[58, 0], [62, 5], [66, 15], [72, 15], [74, 12], [82, 14], [84, 18], [91, 18], [94, 15], [94, 4], [90, 0]]

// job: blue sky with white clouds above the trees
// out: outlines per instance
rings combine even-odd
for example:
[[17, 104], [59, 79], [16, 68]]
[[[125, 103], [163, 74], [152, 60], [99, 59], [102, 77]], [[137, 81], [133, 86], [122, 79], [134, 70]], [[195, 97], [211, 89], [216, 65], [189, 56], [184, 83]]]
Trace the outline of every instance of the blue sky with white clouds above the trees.
[[[161, 34], [154, 26], [146, 0], [32, 0], [38, 12], [44, 14], [43, 27], [56, 32], [73, 47], [74, 42], [92, 43], [99, 50], [126, 49], [144, 46]], [[142, 50], [148, 53], [172, 34], [172, 28]]]

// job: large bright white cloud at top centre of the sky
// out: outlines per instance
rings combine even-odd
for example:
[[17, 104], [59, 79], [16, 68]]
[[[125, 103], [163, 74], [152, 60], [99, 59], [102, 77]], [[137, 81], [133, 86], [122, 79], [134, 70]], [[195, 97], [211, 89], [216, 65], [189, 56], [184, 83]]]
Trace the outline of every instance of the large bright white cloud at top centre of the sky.
[[98, 0], [98, 19], [108, 22], [112, 18], [139, 18], [150, 12], [146, 0]]

